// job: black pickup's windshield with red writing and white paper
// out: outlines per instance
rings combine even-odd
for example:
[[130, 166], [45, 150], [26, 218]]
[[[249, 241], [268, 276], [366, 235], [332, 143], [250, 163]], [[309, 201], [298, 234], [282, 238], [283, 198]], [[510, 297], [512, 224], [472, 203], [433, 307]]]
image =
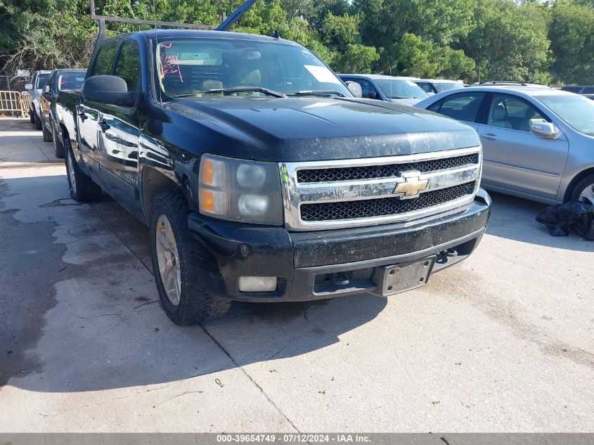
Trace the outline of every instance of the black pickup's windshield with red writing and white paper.
[[[205, 91], [236, 96], [325, 91], [352, 93], [313, 53], [302, 46], [235, 39], [167, 39], [157, 46], [157, 82], [169, 97], [203, 96]], [[260, 89], [262, 91], [245, 91]], [[330, 92], [328, 92], [330, 91]], [[207, 96], [212, 94], [207, 93]]]

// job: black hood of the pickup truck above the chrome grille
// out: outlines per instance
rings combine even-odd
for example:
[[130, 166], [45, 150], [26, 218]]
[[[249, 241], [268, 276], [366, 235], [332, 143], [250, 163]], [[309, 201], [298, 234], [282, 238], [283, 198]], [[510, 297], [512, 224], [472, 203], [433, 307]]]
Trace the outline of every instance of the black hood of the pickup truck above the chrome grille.
[[166, 106], [239, 138], [254, 160], [408, 155], [480, 143], [474, 129], [455, 120], [366, 99], [215, 96], [176, 99]]

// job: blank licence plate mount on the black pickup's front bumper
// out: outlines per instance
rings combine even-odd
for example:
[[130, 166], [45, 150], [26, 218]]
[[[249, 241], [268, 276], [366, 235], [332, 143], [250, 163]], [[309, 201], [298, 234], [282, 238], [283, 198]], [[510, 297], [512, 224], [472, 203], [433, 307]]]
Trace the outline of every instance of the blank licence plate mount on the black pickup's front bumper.
[[426, 257], [415, 262], [395, 264], [375, 268], [372, 281], [377, 285], [377, 295], [387, 297], [405, 290], [419, 288], [427, 283], [436, 256]]

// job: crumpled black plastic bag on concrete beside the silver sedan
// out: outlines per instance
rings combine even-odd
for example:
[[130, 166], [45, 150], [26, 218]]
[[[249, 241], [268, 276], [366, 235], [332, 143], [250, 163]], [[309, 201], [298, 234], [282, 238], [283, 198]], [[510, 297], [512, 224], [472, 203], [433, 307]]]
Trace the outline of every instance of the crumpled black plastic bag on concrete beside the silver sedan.
[[545, 207], [536, 221], [548, 227], [553, 236], [568, 236], [573, 230], [588, 241], [594, 241], [594, 206], [583, 202], [567, 202]]

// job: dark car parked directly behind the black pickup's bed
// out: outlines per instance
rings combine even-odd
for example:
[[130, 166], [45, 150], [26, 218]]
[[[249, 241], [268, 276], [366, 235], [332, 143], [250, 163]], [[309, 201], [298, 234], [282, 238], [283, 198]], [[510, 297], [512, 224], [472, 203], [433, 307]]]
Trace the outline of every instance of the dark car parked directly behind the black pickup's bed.
[[82, 87], [86, 70], [53, 70], [44, 86], [44, 92], [39, 101], [41, 116], [41, 131], [44, 141], [53, 141], [53, 151], [56, 157], [64, 157], [64, 147], [54, 137], [56, 134], [56, 102], [62, 91], [76, 91]]

